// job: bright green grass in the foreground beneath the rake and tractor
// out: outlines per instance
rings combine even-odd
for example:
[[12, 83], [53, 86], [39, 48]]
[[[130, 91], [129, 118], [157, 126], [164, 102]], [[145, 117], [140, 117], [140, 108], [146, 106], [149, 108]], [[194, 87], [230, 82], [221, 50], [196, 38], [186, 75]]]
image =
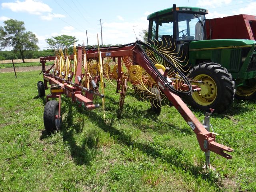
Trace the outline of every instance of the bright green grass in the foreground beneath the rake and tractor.
[[[101, 108], [86, 111], [63, 96], [62, 130], [47, 135], [38, 74], [0, 74], [0, 191], [256, 191], [255, 103], [235, 100], [225, 114], [212, 115], [216, 141], [234, 152], [231, 160], [211, 153], [216, 171], [209, 172], [175, 108], [156, 116], [128, 94], [117, 118], [112, 87], [105, 121]], [[204, 114], [194, 114], [202, 122]]]

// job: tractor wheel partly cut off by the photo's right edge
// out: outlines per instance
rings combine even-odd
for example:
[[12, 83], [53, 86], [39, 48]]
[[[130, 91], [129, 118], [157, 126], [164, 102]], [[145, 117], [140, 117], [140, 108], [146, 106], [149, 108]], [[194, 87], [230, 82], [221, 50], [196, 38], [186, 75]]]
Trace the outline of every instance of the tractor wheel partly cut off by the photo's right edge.
[[256, 100], [256, 78], [248, 80], [247, 86], [239, 86], [235, 97], [239, 100]]

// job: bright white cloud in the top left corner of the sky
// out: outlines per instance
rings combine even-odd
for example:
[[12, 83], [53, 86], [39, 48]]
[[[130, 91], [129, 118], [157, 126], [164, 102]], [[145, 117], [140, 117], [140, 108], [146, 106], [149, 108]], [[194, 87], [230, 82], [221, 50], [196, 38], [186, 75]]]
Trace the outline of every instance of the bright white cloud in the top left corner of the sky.
[[25, 0], [23, 2], [16, 0], [15, 2], [2, 3], [1, 5], [2, 8], [8, 8], [13, 12], [28, 12], [34, 15], [40, 15], [44, 12], [52, 11], [52, 8], [47, 4], [35, 2], [33, 0]]

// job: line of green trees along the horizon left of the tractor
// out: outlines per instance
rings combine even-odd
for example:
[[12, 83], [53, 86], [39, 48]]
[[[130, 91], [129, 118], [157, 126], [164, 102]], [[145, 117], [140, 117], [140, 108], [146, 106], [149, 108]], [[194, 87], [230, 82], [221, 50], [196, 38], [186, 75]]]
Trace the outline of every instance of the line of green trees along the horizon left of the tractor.
[[[0, 60], [9, 60], [9, 59], [22, 59], [22, 62], [25, 62], [24, 59], [30, 58], [40, 58], [43, 56], [54, 55], [54, 50], [59, 49], [68, 49], [69, 54], [73, 54], [73, 45], [78, 40], [74, 36], [60, 35], [54, 36], [46, 39], [49, 47], [47, 50], [39, 50], [38, 38], [31, 31], [26, 31], [23, 21], [18, 21], [14, 19], [9, 19], [4, 21], [4, 26], [0, 26]], [[104, 47], [108, 46], [118, 46], [121, 44], [107, 44], [103, 45]], [[11, 51], [2, 51], [6, 47], [12, 47]], [[86, 46], [86, 47], [95, 47]]]

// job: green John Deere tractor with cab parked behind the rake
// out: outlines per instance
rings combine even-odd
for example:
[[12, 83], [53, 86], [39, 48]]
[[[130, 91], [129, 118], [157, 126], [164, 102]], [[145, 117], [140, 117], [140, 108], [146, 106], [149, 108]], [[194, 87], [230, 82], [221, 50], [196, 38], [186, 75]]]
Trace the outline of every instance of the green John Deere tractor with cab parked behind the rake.
[[172, 47], [188, 78], [200, 80], [192, 84], [200, 82], [201, 91], [188, 98], [194, 108], [214, 108], [221, 113], [234, 96], [256, 98], [256, 41], [206, 40], [206, 14], [206, 9], [176, 4], [152, 13], [148, 16], [148, 42]]

